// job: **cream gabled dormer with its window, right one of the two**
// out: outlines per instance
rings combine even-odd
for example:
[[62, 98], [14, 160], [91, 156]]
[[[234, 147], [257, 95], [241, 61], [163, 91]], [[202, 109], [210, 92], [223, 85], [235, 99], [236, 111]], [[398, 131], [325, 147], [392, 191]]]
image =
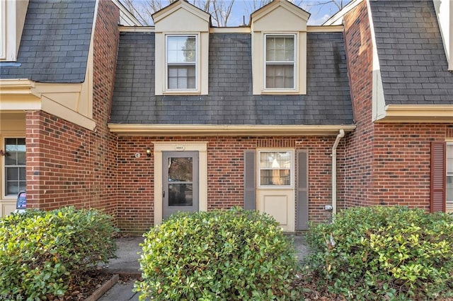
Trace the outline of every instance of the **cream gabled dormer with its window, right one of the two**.
[[306, 94], [309, 16], [287, 0], [273, 0], [252, 13], [253, 95]]

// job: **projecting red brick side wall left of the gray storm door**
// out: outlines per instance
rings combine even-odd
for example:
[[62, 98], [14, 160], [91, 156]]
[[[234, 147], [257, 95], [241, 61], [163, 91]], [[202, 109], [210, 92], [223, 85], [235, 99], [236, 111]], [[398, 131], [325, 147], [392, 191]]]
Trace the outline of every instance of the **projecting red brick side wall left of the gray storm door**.
[[115, 76], [119, 11], [99, 1], [94, 33], [96, 131], [46, 112], [26, 113], [27, 194], [31, 207], [103, 208], [116, 213], [116, 138], [107, 128]]

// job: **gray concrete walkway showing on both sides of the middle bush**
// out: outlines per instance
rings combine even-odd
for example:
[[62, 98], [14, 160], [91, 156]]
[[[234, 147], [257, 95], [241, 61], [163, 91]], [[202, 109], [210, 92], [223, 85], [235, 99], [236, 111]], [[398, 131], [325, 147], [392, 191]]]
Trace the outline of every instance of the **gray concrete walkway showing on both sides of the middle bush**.
[[[294, 241], [296, 256], [299, 260], [309, 254], [309, 248], [306, 246], [304, 235], [289, 235]], [[108, 273], [120, 274], [122, 276], [131, 276], [131, 278], [139, 278], [142, 273], [139, 271], [140, 257], [142, 247], [139, 246], [144, 240], [144, 237], [122, 237], [116, 240], [117, 252], [116, 259], [110, 259], [106, 271]], [[101, 301], [137, 301], [139, 294], [132, 292], [134, 288], [134, 280], [126, 283], [118, 282], [113, 288], [110, 288], [107, 293], [98, 300]]]

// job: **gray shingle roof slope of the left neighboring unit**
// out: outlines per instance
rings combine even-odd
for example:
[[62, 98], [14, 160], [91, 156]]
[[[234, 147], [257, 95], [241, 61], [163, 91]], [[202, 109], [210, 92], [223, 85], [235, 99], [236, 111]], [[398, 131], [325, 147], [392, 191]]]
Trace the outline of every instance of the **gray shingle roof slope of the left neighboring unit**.
[[93, 0], [30, 0], [16, 64], [0, 63], [0, 78], [81, 83], [93, 25]]

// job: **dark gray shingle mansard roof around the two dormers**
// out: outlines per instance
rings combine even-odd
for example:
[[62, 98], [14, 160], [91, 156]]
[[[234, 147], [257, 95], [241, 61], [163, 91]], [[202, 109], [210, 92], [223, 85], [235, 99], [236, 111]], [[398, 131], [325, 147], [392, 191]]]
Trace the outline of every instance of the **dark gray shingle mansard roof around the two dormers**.
[[342, 33], [307, 36], [307, 95], [253, 95], [251, 35], [210, 34], [209, 95], [154, 95], [154, 33], [122, 33], [111, 123], [352, 124]]

